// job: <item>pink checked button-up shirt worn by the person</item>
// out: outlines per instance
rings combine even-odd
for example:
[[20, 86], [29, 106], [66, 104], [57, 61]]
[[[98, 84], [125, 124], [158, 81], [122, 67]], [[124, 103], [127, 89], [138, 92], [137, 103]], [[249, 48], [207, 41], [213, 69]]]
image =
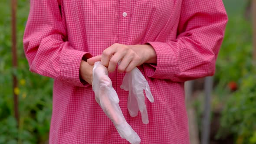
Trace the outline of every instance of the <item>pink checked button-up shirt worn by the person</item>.
[[[83, 56], [114, 43], [149, 43], [157, 65], [138, 68], [149, 82], [149, 124], [127, 110], [125, 73], [110, 74], [121, 110], [141, 144], [189, 144], [184, 81], [213, 75], [227, 22], [222, 0], [30, 0], [24, 50], [30, 70], [53, 79], [50, 144], [128, 144], [79, 79]], [[88, 53], [87, 55], [85, 55]]]

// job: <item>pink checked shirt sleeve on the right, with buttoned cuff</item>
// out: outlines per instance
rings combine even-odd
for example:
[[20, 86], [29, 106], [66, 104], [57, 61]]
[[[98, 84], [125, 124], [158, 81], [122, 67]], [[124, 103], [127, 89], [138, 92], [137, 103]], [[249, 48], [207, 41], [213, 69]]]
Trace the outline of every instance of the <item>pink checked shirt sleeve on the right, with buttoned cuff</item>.
[[227, 23], [222, 0], [183, 0], [178, 36], [173, 41], [147, 42], [157, 65], [144, 64], [148, 77], [184, 82], [214, 75]]

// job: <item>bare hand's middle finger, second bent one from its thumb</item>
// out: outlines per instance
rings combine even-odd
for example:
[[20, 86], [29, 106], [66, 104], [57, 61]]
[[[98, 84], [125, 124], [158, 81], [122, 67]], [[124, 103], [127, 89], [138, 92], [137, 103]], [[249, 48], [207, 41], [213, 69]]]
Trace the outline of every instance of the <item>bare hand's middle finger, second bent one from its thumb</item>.
[[116, 65], [118, 64], [118, 62], [123, 59], [123, 57], [125, 56], [126, 51], [125, 50], [119, 50], [118, 52], [116, 52], [111, 59], [109, 60], [109, 64], [108, 64], [108, 72], [114, 72]]

